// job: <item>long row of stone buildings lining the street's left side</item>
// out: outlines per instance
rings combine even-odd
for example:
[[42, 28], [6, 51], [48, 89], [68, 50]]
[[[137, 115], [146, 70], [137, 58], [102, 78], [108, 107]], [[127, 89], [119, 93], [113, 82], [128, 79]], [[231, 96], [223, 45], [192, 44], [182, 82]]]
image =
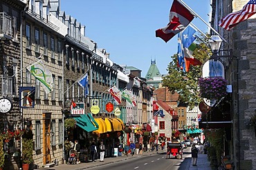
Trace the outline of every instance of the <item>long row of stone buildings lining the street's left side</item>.
[[[64, 140], [68, 138], [64, 121], [77, 116], [71, 112], [72, 102], [83, 103], [83, 113], [91, 115], [92, 101], [97, 100], [99, 110], [93, 113], [96, 122], [97, 118], [118, 118], [130, 127], [149, 125], [151, 132], [157, 131], [168, 140], [184, 125], [196, 124], [198, 111], [187, 116], [187, 108], [176, 105], [177, 94], [172, 96], [165, 87], [158, 86], [162, 75], [155, 61], [146, 78], [141, 77], [141, 70], [113, 63], [105, 49], [98, 48], [96, 42], [86, 37], [85, 26], [60, 10], [60, 0], [31, 0], [29, 3], [3, 0], [0, 17], [1, 99], [11, 101], [10, 108], [1, 109], [1, 131], [32, 129], [33, 164], [37, 167], [51, 162], [63, 163]], [[27, 69], [38, 62], [51, 72], [53, 88], [50, 93]], [[89, 78], [88, 94], [77, 84], [85, 74]], [[120, 91], [131, 90], [136, 96], [136, 106], [125, 99], [117, 105], [108, 92], [113, 85]], [[32, 100], [28, 98], [30, 92], [35, 94]], [[106, 111], [109, 102], [120, 114]], [[165, 117], [154, 116], [159, 109]], [[134, 133], [122, 136], [122, 142], [135, 139]], [[19, 147], [15, 141], [4, 143], [4, 150], [9, 153], [5, 168], [19, 169], [12, 155]]]

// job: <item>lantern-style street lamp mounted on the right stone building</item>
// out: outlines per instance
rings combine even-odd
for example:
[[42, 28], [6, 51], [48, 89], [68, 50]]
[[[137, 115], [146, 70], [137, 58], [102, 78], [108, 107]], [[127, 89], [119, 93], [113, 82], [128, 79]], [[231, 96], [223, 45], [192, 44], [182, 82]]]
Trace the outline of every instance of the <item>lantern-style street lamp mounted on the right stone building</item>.
[[218, 35], [212, 35], [210, 36], [210, 40], [208, 41], [210, 44], [210, 48], [212, 50], [212, 56], [211, 58], [214, 59], [214, 61], [217, 61], [217, 53], [219, 52], [219, 48], [221, 47], [222, 39]]

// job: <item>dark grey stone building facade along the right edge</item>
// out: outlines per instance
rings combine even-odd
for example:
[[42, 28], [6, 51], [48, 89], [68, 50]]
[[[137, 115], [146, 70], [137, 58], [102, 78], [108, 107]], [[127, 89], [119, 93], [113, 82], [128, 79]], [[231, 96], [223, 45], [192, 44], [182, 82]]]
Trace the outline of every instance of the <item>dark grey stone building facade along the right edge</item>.
[[221, 19], [231, 12], [237, 12], [246, 3], [246, 0], [212, 1], [212, 26], [229, 43], [223, 42], [221, 50], [232, 50], [230, 59], [222, 61], [227, 68], [226, 79], [232, 85], [232, 137], [228, 149], [235, 169], [256, 169], [255, 128], [250, 124], [250, 118], [256, 114], [256, 16], [239, 23], [230, 31], [218, 27], [216, 18]]

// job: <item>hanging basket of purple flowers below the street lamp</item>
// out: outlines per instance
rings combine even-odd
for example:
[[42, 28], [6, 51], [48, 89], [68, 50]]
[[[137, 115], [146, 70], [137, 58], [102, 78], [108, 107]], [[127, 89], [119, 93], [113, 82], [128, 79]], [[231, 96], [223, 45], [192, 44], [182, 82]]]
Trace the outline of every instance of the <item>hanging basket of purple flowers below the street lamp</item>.
[[222, 77], [199, 78], [200, 96], [208, 100], [220, 100], [227, 96], [227, 81]]

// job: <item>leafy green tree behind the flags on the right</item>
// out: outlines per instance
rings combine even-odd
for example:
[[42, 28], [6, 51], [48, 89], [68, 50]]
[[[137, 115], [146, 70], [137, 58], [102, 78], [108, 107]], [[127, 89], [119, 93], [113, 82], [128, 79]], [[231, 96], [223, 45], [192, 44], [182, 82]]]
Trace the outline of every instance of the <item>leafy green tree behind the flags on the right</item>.
[[[199, 43], [193, 56], [204, 63], [209, 59], [210, 49], [205, 43]], [[168, 87], [169, 91], [179, 94], [179, 103], [185, 103], [194, 108], [196, 103], [200, 103], [198, 80], [201, 77], [201, 66], [190, 65], [189, 72], [183, 72], [177, 67], [177, 54], [171, 56], [172, 61], [167, 67], [168, 74], [163, 77], [163, 86]]]

